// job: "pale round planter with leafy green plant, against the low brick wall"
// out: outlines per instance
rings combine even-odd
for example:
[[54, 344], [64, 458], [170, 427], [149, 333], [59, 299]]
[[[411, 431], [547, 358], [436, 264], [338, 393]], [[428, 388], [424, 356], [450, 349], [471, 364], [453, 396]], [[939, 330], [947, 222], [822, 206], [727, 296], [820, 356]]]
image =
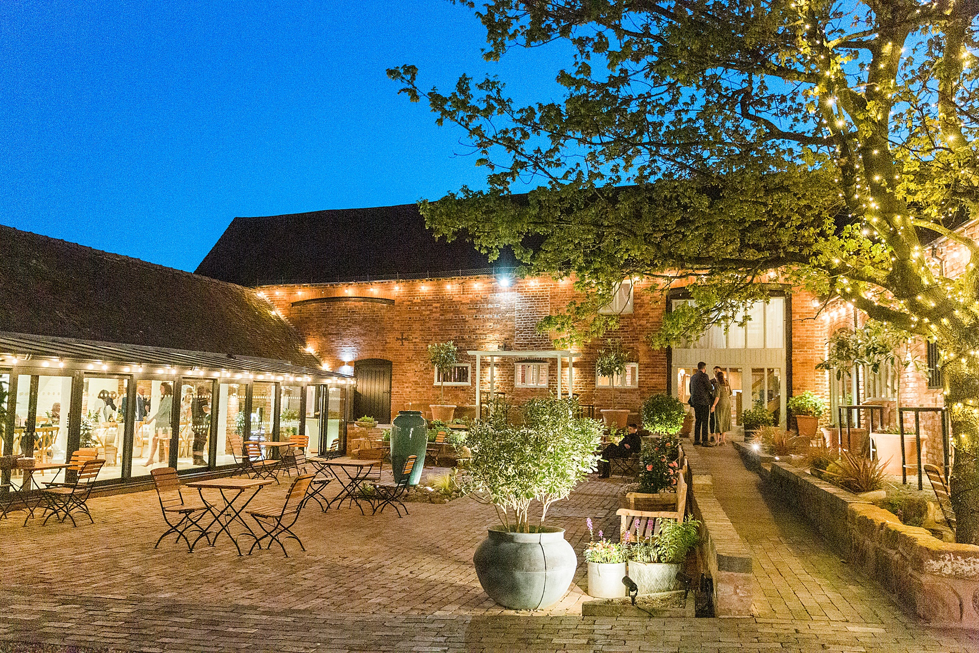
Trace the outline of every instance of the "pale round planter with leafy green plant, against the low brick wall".
[[700, 541], [700, 522], [663, 520], [660, 533], [653, 539], [629, 546], [629, 578], [640, 594], [654, 594], [679, 589], [676, 575], [683, 569], [686, 556]]

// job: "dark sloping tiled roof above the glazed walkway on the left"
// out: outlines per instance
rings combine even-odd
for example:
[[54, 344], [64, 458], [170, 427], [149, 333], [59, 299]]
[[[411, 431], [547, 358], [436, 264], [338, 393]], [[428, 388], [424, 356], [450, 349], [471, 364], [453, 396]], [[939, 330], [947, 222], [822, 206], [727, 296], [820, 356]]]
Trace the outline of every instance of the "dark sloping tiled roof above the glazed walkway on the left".
[[0, 226], [0, 331], [318, 367], [248, 288], [10, 226]]

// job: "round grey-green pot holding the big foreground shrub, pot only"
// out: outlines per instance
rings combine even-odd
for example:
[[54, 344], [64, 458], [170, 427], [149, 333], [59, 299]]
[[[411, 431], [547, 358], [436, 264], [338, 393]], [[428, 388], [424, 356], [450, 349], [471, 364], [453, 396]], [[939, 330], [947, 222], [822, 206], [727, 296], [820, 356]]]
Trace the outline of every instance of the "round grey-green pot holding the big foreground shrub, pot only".
[[496, 603], [513, 610], [536, 610], [557, 603], [567, 593], [578, 557], [564, 538], [564, 528], [510, 532], [491, 527], [476, 549], [473, 564], [484, 591]]

